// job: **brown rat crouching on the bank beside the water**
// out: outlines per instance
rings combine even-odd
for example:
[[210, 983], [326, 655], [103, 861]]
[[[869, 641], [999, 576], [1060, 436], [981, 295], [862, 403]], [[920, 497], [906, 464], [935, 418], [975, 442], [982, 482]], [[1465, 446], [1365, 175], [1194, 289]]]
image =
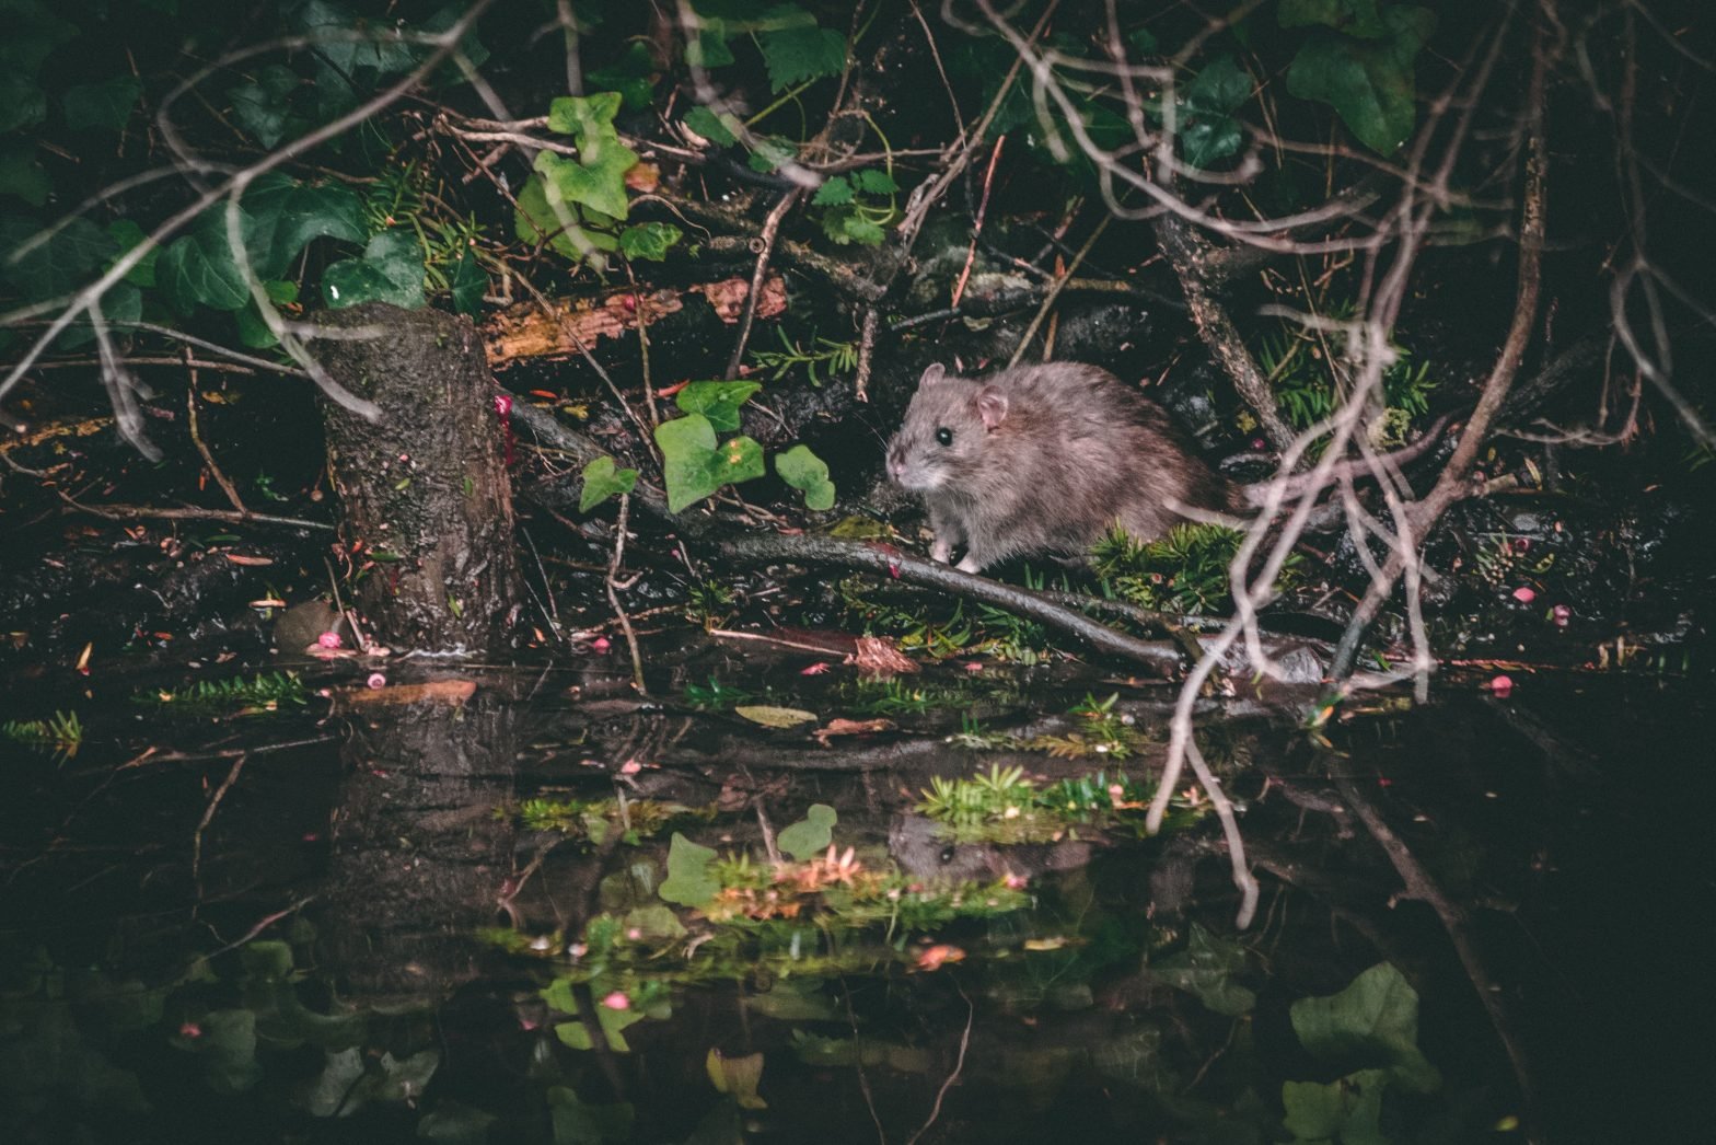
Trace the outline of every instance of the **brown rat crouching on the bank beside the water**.
[[946, 561], [964, 572], [1028, 553], [1085, 553], [1119, 524], [1139, 541], [1246, 496], [1167, 412], [1095, 366], [1019, 366], [983, 379], [930, 366], [887, 446], [887, 476], [923, 496]]

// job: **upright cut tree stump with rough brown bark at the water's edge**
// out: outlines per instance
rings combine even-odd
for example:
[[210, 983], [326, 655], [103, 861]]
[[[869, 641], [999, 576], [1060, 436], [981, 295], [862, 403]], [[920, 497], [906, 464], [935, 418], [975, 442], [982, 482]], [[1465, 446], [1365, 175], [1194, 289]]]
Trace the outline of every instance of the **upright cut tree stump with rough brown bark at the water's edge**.
[[371, 302], [326, 311], [316, 354], [381, 409], [323, 402], [341, 539], [369, 633], [393, 649], [491, 654], [522, 596], [494, 379], [453, 314]]

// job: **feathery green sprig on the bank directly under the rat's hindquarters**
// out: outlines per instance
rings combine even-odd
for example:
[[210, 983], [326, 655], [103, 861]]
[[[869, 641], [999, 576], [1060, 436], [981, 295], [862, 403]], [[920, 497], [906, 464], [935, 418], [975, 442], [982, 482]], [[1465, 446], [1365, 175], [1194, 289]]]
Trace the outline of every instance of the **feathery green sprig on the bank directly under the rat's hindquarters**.
[[[1091, 563], [1103, 584], [1139, 608], [1199, 615], [1225, 604], [1229, 565], [1246, 534], [1225, 525], [1179, 524], [1169, 536], [1139, 544], [1121, 530], [1091, 546]], [[1282, 566], [1277, 589], [1299, 577], [1299, 560]]]

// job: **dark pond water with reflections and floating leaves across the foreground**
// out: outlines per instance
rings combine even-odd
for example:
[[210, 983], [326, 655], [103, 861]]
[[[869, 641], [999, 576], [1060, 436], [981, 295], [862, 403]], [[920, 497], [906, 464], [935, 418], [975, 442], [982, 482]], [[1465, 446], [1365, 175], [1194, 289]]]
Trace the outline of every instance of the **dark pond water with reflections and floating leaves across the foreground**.
[[[913, 814], [995, 766], [1148, 791], [1165, 688], [704, 657], [638, 702], [611, 668], [395, 671], [475, 692], [252, 716], [134, 700], [180, 680], [12, 688], [0, 719], [86, 735], [0, 745], [0, 1140], [1709, 1136], [1707, 683], [1445, 678], [1321, 736], [1211, 702], [1263, 884], [1236, 932], [1198, 807], [1012, 846]], [[1110, 694], [1126, 757], [1074, 754], [1098, 721], [1062, 712]], [[841, 716], [894, 726], [808, 735]], [[817, 822], [834, 867], [770, 882], [770, 838], [827, 858]], [[683, 905], [674, 834], [748, 888], [726, 917]], [[1369, 1033], [1306, 1035], [1342, 991]]]

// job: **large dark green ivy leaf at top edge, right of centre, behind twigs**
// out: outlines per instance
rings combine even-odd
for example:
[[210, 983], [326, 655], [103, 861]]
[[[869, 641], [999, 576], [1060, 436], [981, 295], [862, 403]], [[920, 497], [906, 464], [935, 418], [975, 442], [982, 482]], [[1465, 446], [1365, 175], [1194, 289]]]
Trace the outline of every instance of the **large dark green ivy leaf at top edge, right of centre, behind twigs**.
[[1429, 9], [1393, 7], [1381, 14], [1385, 34], [1352, 39], [1313, 34], [1287, 69], [1287, 91], [1328, 103], [1359, 142], [1393, 154], [1417, 122], [1412, 62], [1436, 31]]

